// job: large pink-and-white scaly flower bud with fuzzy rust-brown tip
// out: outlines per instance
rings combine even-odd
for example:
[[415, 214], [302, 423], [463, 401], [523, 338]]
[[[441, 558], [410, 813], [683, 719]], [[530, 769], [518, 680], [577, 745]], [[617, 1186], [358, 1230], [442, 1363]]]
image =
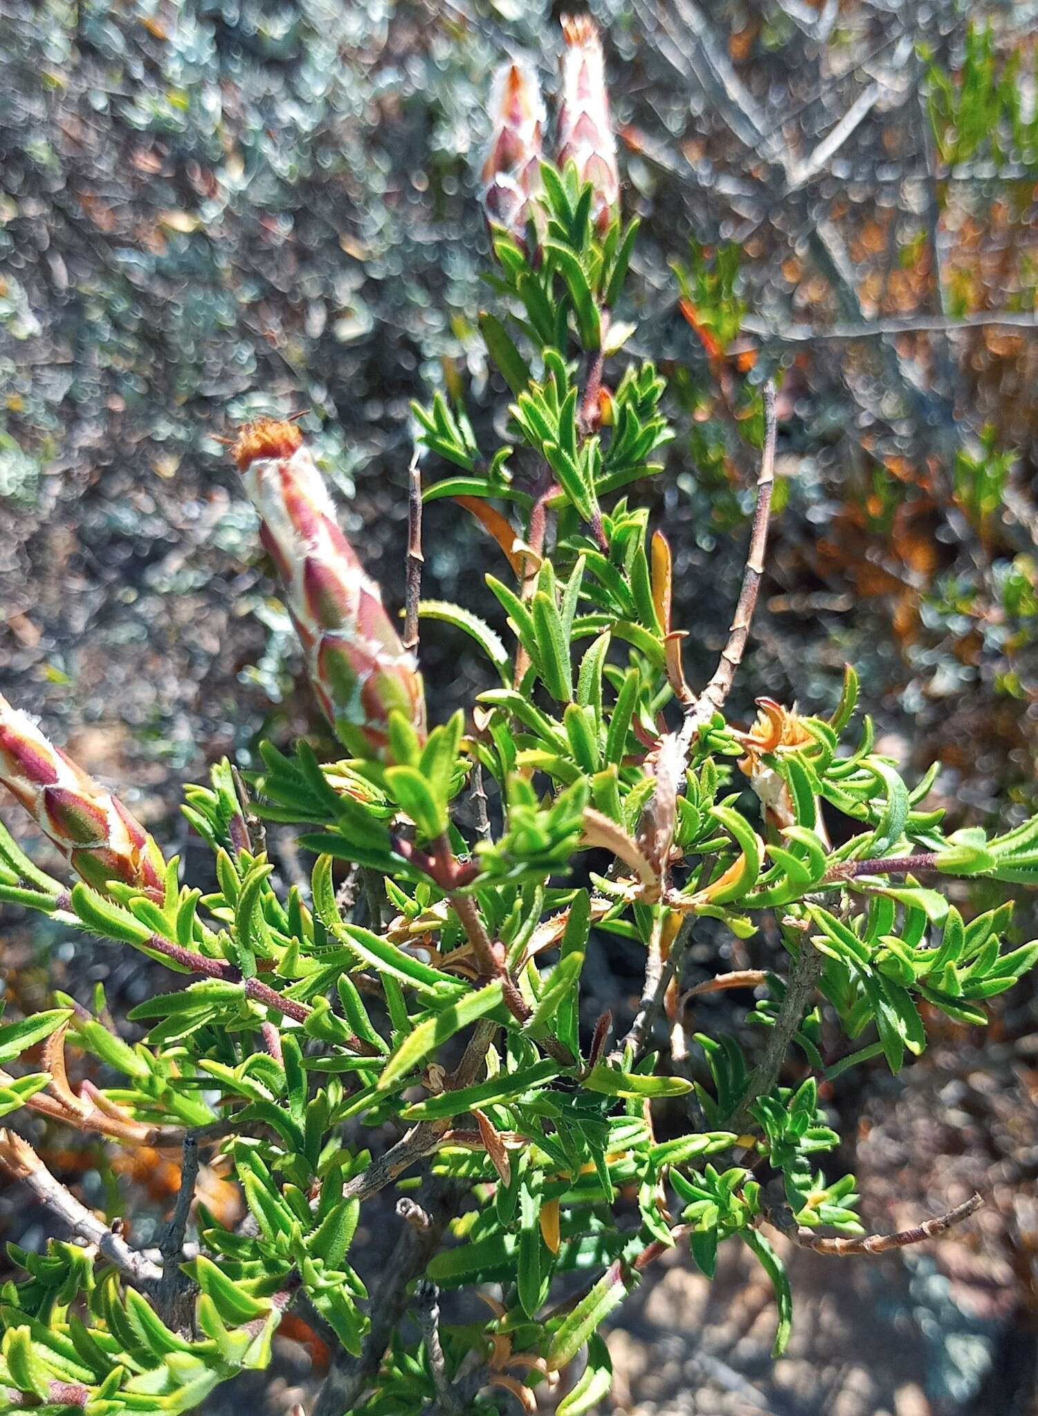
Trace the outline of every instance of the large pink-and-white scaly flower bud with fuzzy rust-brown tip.
[[293, 423], [244, 428], [234, 457], [259, 535], [285, 588], [307, 671], [329, 722], [358, 758], [382, 758], [389, 714], [425, 736], [425, 695], [375, 582], [338, 530], [321, 474]]

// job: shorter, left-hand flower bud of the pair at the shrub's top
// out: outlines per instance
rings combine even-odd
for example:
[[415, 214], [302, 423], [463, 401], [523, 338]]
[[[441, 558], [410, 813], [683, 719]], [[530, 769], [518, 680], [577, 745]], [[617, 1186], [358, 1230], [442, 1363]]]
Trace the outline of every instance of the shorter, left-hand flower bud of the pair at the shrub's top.
[[490, 120], [483, 205], [490, 221], [524, 245], [527, 221], [535, 211], [532, 200], [541, 190], [544, 130], [541, 86], [527, 64], [506, 64], [494, 75]]

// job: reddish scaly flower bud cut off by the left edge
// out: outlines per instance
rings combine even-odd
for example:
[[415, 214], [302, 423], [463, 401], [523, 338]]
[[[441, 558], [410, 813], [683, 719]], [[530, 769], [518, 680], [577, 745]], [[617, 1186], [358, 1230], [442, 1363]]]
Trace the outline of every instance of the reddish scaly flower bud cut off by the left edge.
[[166, 862], [140, 821], [3, 697], [0, 782], [88, 885], [122, 881], [163, 898]]

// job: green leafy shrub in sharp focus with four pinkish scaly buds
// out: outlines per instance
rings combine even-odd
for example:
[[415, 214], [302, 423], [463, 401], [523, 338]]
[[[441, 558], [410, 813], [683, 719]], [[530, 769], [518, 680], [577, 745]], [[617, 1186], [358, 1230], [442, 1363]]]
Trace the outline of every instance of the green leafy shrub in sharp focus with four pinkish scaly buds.
[[[980, 1202], [865, 1235], [854, 1178], [817, 1170], [840, 1140], [819, 1086], [878, 1055], [899, 1070], [925, 1049], [933, 1011], [983, 1024], [986, 1000], [1035, 961], [1038, 943], [1004, 949], [1008, 906], [966, 920], [935, 882], [1034, 884], [1038, 818], [994, 838], [946, 835], [925, 806], [935, 773], [909, 787], [868, 719], [847, 745], [851, 670], [830, 719], [762, 700], [748, 731], [726, 721], [763, 571], [768, 385], [731, 636], [705, 688], [685, 683], [670, 548], [626, 494], [661, 470], [670, 439], [653, 364], [627, 357], [613, 374], [634, 336], [615, 312], [636, 227], [617, 212], [598, 37], [566, 21], [565, 38], [561, 170], [541, 160], [531, 75], [510, 67], [494, 91], [498, 313], [480, 323], [514, 396], [508, 442], [484, 452], [442, 396], [415, 409], [430, 464], [453, 464], [426, 498], [462, 498], [510, 566], [511, 583], [487, 576], [510, 643], [463, 606], [419, 599], [418, 464], [401, 639], [303, 433], [262, 421], [242, 429], [235, 462], [350, 756], [268, 746], [248, 789], [227, 762], [190, 789], [184, 813], [214, 854], [203, 895], [0, 700], [0, 777], [78, 877], [68, 889], [3, 833], [0, 899], [184, 981], [130, 1012], [149, 1029], [136, 1045], [101, 993], [93, 1010], [58, 995], [0, 1028], [4, 1066], [42, 1044], [37, 1070], [0, 1075], [4, 1113], [183, 1157], [149, 1250], [0, 1133], [3, 1168], [75, 1239], [14, 1252], [24, 1279], [4, 1290], [0, 1386], [16, 1405], [194, 1410], [265, 1366], [297, 1308], [333, 1349], [317, 1416], [532, 1409], [538, 1383], [558, 1385], [558, 1410], [576, 1416], [609, 1391], [602, 1323], [668, 1249], [688, 1245], [709, 1276], [722, 1240], [745, 1243], [775, 1286], [780, 1352], [792, 1298], [765, 1229], [874, 1253]], [[414, 656], [422, 616], [472, 636], [497, 681], [467, 716], [433, 726]], [[302, 828], [309, 892], [278, 888], [263, 820]], [[775, 971], [694, 990], [765, 988], [756, 1061], [732, 1037], [697, 1034], [698, 1078], [678, 994], [695, 929], [760, 930], [776, 956]], [[641, 998], [617, 1034], [609, 1012], [581, 1010], [589, 950], [613, 940], [644, 953]], [[828, 1062], [823, 1010], [851, 1044]], [[115, 1085], [74, 1089], [69, 1046]], [[388, 1129], [397, 1138], [372, 1154], [365, 1138]], [[241, 1189], [236, 1226], [195, 1205], [203, 1154], [221, 1155]], [[392, 1188], [399, 1238], [368, 1291], [351, 1242], [363, 1208], [384, 1214]], [[487, 1323], [443, 1297], [489, 1284], [500, 1298], [483, 1294]]]

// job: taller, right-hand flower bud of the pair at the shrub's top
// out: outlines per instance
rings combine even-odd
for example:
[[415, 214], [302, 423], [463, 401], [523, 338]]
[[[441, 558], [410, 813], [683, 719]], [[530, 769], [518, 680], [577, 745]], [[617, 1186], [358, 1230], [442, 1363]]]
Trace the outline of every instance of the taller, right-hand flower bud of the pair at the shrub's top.
[[591, 183], [592, 219], [605, 231], [620, 205], [616, 139], [609, 119], [606, 64], [595, 21], [565, 16], [562, 34], [562, 98], [558, 113], [558, 164], [572, 161], [582, 183]]

